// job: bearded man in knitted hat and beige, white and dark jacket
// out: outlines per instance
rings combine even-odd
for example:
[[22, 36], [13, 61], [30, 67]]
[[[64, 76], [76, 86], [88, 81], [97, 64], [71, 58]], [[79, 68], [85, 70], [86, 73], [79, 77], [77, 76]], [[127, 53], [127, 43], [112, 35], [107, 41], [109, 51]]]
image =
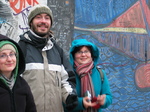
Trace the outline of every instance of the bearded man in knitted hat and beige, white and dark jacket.
[[28, 14], [30, 30], [20, 35], [26, 70], [23, 78], [34, 96], [37, 112], [63, 112], [77, 105], [75, 75], [63, 50], [50, 30], [53, 23], [51, 9], [36, 5]]

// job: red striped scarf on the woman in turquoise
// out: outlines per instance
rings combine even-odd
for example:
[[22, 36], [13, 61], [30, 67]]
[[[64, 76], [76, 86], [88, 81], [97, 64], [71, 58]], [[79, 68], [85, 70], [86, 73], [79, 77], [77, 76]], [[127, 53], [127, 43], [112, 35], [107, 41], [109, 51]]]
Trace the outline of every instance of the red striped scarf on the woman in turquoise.
[[[86, 91], [89, 91], [91, 94], [91, 98], [95, 96], [93, 83], [91, 80], [92, 68], [93, 68], [93, 61], [79, 65], [76, 61], [74, 61], [74, 66], [76, 68], [76, 73], [81, 78], [81, 96], [85, 97]], [[87, 108], [82, 112], [96, 112], [93, 108]]]

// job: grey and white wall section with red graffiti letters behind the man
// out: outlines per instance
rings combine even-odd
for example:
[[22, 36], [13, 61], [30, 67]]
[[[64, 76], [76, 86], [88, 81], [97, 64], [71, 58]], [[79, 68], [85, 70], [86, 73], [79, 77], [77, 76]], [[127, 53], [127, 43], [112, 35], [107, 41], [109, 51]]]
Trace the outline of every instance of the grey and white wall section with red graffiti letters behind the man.
[[0, 1], [0, 33], [14, 40], [29, 30], [28, 13], [36, 4], [48, 5], [54, 15], [52, 31], [57, 42], [68, 53], [73, 36], [74, 1], [71, 0], [1, 0]]

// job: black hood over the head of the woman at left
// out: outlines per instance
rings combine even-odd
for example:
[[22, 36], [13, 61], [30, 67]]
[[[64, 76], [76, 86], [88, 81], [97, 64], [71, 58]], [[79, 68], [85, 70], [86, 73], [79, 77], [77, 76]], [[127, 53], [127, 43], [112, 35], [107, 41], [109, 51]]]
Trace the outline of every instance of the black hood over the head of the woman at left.
[[[18, 43], [15, 42], [14, 40], [4, 36], [4, 35], [1, 35], [1, 34], [0, 34], [0, 41], [9, 41], [9, 42], [11, 42], [15, 45], [15, 47], [17, 48], [18, 57], [19, 57], [15, 69], [18, 69], [16, 71], [17, 74], [22, 74], [25, 70], [25, 59], [24, 59], [24, 56], [23, 56], [23, 52], [22, 52], [21, 48], [19, 47]], [[17, 75], [17, 74], [15, 74], [15, 75]]]

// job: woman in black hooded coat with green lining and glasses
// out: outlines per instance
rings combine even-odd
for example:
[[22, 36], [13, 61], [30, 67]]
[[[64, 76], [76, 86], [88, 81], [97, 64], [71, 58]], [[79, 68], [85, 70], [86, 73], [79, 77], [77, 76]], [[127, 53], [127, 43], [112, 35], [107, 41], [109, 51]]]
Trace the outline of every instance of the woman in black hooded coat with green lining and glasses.
[[0, 34], [0, 111], [36, 112], [32, 93], [20, 76], [25, 69], [18, 44]]

